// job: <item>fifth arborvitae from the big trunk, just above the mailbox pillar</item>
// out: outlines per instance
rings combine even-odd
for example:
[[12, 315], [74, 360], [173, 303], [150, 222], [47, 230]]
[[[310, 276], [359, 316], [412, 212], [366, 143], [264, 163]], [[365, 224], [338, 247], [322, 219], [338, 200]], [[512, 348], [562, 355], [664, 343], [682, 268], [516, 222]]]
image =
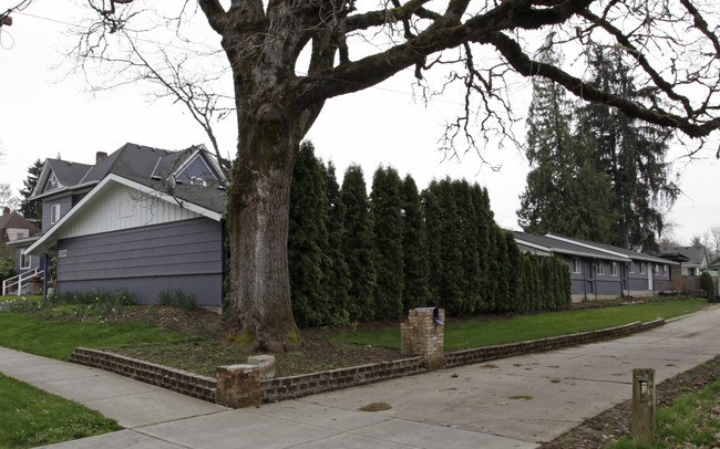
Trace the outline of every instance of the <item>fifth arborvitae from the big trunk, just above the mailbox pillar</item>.
[[429, 306], [428, 286], [430, 264], [428, 230], [422, 212], [422, 202], [415, 180], [405, 176], [401, 188], [402, 200], [402, 249], [403, 249], [403, 309]]

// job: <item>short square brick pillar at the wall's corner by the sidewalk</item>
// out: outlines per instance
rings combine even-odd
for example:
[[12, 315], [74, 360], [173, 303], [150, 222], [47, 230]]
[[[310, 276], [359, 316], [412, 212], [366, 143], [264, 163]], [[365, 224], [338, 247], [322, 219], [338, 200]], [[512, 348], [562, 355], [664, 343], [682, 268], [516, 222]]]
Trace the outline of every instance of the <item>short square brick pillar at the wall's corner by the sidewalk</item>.
[[260, 405], [260, 367], [229, 365], [217, 367], [218, 405], [243, 408]]

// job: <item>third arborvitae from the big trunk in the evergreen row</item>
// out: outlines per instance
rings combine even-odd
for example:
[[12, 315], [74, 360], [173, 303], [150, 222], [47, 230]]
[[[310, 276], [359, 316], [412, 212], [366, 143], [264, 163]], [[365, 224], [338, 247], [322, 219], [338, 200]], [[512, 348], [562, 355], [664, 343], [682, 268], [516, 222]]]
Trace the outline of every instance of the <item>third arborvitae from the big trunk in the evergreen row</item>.
[[346, 170], [340, 198], [344, 205], [342, 251], [350, 270], [348, 312], [353, 320], [371, 320], [378, 278], [373, 219], [360, 166], [351, 165]]

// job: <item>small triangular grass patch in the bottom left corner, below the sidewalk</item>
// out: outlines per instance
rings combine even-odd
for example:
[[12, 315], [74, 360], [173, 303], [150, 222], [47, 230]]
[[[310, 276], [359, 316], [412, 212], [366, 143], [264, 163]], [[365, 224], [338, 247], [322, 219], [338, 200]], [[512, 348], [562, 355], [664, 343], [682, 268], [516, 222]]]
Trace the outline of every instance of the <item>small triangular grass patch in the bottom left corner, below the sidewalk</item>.
[[0, 448], [32, 448], [119, 429], [114, 419], [0, 374]]

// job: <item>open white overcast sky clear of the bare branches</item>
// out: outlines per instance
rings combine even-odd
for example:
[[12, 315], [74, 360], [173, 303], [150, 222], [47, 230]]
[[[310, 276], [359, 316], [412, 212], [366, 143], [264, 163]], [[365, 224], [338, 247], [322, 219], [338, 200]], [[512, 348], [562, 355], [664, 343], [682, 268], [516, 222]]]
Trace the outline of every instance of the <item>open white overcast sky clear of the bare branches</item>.
[[[16, 3], [0, 0], [0, 9]], [[63, 60], [63, 49], [73, 42], [65, 34], [66, 23], [75, 23], [75, 17], [64, 1], [34, 0], [24, 13], [13, 14], [12, 27], [0, 31], [0, 148], [6, 154], [0, 160], [0, 182], [19, 189], [38, 158], [61, 155], [65, 160], [92, 164], [95, 152], [112, 153], [126, 142], [164, 149], [200, 143], [209, 147], [203, 130], [181, 106], [168, 101], [150, 103], [142, 86], [91, 95], [81, 75], [53, 70]], [[209, 28], [206, 32], [214, 39]], [[374, 88], [329, 101], [308, 135], [317, 154], [335, 163], [340, 178], [356, 163], [362, 166], [367, 182], [381, 164], [397, 168], [401, 176], [411, 174], [420, 188], [445, 176], [476, 181], [487, 188], [496, 221], [518, 229], [515, 211], [528, 171], [520, 149], [506, 143], [502, 149], [491, 145], [483, 150], [486, 159], [502, 166], [498, 171], [482, 165], [475, 154], [448, 160], [438, 150], [438, 140], [460, 104], [436, 98], [425, 106], [413, 100], [411, 83], [412, 73], [407, 72]], [[512, 85], [521, 116], [527, 108], [527, 85], [522, 80]], [[515, 130], [520, 135], [523, 128], [521, 124]], [[233, 123], [222, 124], [216, 133], [222, 147], [233, 152]], [[716, 138], [701, 155], [704, 159], [691, 164], [678, 159], [685, 148], [671, 148], [669, 158], [676, 160], [683, 195], [668, 219], [682, 243], [720, 224], [717, 148]]]

